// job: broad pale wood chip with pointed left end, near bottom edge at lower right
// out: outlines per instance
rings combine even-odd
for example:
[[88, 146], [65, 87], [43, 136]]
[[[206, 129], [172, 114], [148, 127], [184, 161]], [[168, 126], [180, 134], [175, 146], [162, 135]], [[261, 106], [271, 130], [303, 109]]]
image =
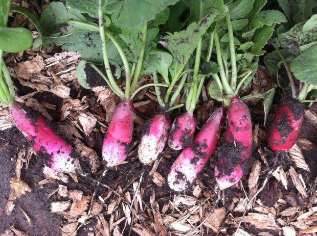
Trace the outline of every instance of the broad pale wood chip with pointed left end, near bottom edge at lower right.
[[[235, 221], [240, 221], [239, 218], [234, 218]], [[249, 213], [242, 219], [242, 222], [250, 223], [259, 229], [273, 229], [273, 230], [281, 230], [281, 227], [276, 224], [274, 216], [269, 214], [259, 214], [259, 213]]]

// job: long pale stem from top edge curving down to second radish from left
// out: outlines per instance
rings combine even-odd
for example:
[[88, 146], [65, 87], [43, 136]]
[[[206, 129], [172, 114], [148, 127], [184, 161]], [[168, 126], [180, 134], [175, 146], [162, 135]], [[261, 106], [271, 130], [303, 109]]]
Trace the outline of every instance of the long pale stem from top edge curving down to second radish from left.
[[103, 25], [102, 15], [103, 15], [103, 12], [101, 10], [101, 0], [99, 0], [99, 4], [98, 4], [99, 32], [100, 32], [100, 39], [101, 39], [101, 45], [102, 45], [102, 56], [103, 56], [104, 66], [105, 66], [108, 80], [109, 80], [109, 83], [111, 84], [112, 90], [114, 90], [114, 92], [116, 92], [116, 94], [118, 94], [119, 97], [124, 99], [125, 94], [121, 91], [121, 89], [117, 85], [116, 80], [114, 76], [112, 75], [112, 72], [110, 69], [109, 58], [107, 53], [106, 37], [105, 37], [105, 28]]

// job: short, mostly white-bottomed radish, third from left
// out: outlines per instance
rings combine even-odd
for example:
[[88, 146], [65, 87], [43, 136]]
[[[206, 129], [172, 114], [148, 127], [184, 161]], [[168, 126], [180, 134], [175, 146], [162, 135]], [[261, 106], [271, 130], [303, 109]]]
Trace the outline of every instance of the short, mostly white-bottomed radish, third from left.
[[139, 160], [147, 165], [156, 160], [168, 139], [171, 121], [165, 113], [158, 113], [143, 124]]

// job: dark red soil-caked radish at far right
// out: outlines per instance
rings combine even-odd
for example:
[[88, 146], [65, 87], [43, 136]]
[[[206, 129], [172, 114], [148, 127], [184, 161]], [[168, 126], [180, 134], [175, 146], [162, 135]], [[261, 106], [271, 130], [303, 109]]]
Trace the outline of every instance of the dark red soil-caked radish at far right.
[[289, 150], [296, 143], [303, 122], [302, 114], [299, 113], [296, 117], [296, 113], [288, 104], [276, 109], [274, 119], [269, 124], [266, 134], [271, 150]]

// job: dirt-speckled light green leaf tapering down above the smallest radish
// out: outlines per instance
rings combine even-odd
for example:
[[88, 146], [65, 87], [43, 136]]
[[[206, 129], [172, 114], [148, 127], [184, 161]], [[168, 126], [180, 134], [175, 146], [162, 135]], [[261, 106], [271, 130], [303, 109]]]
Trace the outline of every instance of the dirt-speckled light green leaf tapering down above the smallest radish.
[[184, 66], [196, 48], [199, 39], [220, 14], [222, 13], [211, 10], [198, 23], [192, 23], [186, 30], [175, 32], [173, 35], [169, 34], [164, 38], [164, 41], [160, 41], [173, 56], [173, 63], [170, 66], [170, 73], [173, 78], [175, 75], [180, 75], [180, 72], [184, 69]]

